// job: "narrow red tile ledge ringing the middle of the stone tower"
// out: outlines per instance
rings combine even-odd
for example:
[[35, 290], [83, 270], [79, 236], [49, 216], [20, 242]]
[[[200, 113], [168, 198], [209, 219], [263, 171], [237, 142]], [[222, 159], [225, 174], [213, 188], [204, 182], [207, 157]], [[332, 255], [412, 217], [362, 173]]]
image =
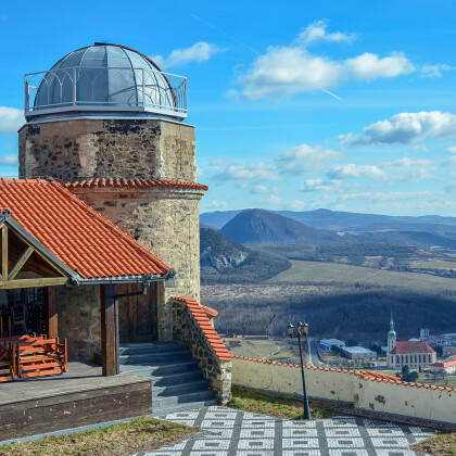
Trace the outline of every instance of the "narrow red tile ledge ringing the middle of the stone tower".
[[63, 186], [67, 189], [77, 189], [77, 188], [181, 188], [181, 189], [198, 189], [198, 190], [207, 190], [208, 187], [203, 183], [188, 182], [181, 180], [152, 180], [152, 179], [118, 179], [118, 178], [107, 178], [107, 179], [86, 179], [86, 180], [68, 180], [63, 182]]

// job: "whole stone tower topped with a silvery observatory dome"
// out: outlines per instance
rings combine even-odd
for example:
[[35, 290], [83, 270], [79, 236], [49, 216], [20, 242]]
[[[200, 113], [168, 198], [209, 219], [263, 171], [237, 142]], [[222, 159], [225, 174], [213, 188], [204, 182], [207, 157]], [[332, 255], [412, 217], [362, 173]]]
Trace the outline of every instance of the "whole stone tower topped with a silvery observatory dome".
[[[200, 299], [194, 127], [187, 79], [149, 58], [96, 42], [26, 76], [20, 177], [51, 177], [176, 270], [170, 295]], [[160, 339], [170, 337], [166, 304]], [[170, 312], [170, 311], [169, 311]], [[168, 328], [168, 329], [167, 329]]]

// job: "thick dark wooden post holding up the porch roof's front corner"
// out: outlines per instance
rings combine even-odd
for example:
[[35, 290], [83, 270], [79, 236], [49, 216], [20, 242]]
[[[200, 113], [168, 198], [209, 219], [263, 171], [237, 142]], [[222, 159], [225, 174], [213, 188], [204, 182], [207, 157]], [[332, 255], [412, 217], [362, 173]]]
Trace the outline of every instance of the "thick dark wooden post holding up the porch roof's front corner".
[[114, 287], [103, 284], [101, 293], [101, 367], [104, 377], [117, 373]]

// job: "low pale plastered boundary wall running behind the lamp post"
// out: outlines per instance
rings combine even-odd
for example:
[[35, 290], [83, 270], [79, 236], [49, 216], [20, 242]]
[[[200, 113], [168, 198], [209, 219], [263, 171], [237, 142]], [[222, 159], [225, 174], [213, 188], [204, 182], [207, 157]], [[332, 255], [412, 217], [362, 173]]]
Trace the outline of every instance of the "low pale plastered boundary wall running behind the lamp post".
[[[355, 409], [456, 425], [456, 389], [365, 378], [341, 369], [305, 369], [311, 397], [351, 403]], [[232, 383], [241, 387], [303, 394], [301, 366], [235, 358]]]

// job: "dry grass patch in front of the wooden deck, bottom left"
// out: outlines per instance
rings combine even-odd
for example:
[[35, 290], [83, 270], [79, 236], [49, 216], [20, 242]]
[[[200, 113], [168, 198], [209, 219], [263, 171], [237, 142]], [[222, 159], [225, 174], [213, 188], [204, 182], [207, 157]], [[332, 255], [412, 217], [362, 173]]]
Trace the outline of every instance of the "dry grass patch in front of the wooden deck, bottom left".
[[199, 428], [142, 417], [107, 428], [0, 446], [0, 455], [121, 456], [151, 452], [177, 443], [199, 430]]

